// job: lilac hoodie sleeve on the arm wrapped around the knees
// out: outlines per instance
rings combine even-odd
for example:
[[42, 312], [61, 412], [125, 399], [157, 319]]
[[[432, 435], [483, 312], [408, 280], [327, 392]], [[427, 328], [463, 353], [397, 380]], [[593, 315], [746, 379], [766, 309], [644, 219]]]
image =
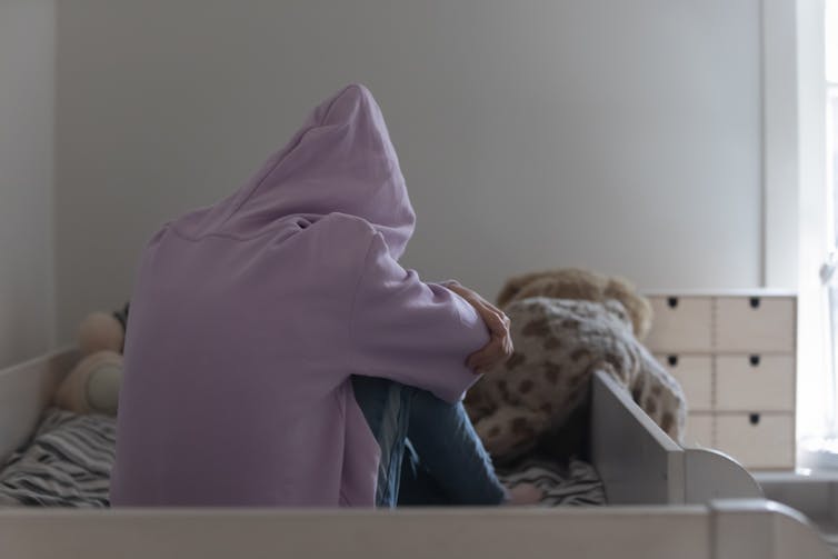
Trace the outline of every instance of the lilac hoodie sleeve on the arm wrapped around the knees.
[[355, 375], [422, 388], [451, 403], [479, 378], [466, 358], [489, 342], [477, 311], [452, 291], [405, 270], [380, 233], [367, 251], [349, 329]]

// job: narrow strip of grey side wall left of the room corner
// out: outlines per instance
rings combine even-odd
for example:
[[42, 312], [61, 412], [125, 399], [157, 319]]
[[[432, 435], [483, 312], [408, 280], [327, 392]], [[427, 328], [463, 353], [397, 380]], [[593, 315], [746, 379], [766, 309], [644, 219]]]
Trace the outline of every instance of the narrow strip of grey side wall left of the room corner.
[[54, 343], [54, 9], [0, 2], [0, 367]]

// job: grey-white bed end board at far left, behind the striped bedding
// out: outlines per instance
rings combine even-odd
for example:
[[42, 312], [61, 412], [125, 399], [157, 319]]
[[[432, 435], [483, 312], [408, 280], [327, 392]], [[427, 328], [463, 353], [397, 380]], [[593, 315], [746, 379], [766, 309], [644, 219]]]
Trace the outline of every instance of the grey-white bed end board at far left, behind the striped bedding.
[[0, 370], [0, 463], [31, 435], [56, 387], [78, 361], [73, 348]]

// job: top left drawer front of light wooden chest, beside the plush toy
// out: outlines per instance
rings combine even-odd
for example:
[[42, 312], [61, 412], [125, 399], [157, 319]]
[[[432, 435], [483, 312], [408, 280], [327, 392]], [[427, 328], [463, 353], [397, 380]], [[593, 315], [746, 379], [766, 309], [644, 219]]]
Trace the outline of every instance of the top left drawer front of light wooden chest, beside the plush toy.
[[712, 347], [712, 299], [650, 297], [655, 316], [646, 346], [657, 352], [707, 351]]

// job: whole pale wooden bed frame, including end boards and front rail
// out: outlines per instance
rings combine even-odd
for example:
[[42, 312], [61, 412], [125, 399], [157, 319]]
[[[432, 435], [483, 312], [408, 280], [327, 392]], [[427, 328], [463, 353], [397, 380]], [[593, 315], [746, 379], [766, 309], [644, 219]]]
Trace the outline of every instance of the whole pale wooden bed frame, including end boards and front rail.
[[[0, 370], [0, 460], [31, 436], [77, 360], [63, 349]], [[0, 557], [831, 557], [802, 515], [764, 499], [729, 457], [678, 446], [601, 371], [590, 419], [608, 507], [9, 508], [0, 509]]]

